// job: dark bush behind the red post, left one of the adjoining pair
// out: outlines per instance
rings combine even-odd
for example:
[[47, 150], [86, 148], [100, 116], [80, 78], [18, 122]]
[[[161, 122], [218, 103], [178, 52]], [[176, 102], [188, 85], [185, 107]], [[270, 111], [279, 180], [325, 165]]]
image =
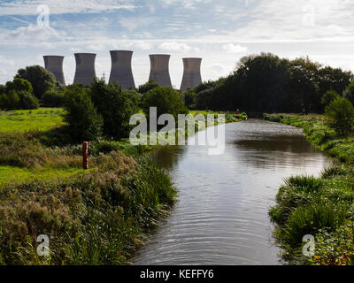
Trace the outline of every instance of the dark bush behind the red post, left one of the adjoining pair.
[[65, 91], [64, 120], [68, 124], [69, 133], [78, 142], [94, 141], [102, 134], [104, 121], [97, 114], [86, 88], [73, 85]]

